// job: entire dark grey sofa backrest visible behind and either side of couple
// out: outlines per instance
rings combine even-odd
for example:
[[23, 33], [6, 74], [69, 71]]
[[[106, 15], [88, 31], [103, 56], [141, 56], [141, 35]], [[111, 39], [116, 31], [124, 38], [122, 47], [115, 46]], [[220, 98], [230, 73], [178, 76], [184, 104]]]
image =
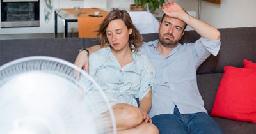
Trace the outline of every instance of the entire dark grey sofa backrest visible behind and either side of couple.
[[[198, 74], [222, 73], [223, 67], [243, 67], [243, 59], [256, 61], [256, 27], [220, 29], [221, 48], [218, 56], [210, 56], [199, 68]], [[153, 41], [158, 34], [143, 34], [143, 41]], [[196, 41], [195, 31], [186, 31], [181, 43]], [[99, 44], [96, 38], [47, 38], [0, 40], [0, 66], [26, 56], [59, 57], [74, 63], [77, 51]]]

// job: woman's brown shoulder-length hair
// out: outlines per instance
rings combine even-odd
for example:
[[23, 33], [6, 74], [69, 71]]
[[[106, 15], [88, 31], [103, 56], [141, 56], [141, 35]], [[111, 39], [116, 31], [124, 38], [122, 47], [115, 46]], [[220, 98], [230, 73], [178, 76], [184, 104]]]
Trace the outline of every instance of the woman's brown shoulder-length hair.
[[125, 26], [128, 29], [132, 29], [132, 33], [131, 35], [129, 35], [129, 47], [132, 49], [131, 45], [134, 45], [134, 50], [137, 52], [138, 48], [142, 45], [142, 36], [140, 32], [136, 29], [136, 27], [132, 24], [131, 17], [129, 13], [127, 13], [127, 11], [125, 10], [110, 11], [108, 16], [106, 16], [106, 18], [100, 24], [100, 27], [97, 30], [97, 32], [99, 32], [98, 37], [100, 38], [100, 44], [102, 45], [102, 47], [109, 46], [106, 29], [112, 20], [118, 19], [123, 20]]

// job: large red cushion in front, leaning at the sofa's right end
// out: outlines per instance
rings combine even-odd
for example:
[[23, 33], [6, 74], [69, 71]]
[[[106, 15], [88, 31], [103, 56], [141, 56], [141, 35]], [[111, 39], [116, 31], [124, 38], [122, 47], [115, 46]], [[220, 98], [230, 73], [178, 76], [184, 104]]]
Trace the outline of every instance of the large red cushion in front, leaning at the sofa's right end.
[[225, 66], [211, 115], [256, 123], [256, 71]]

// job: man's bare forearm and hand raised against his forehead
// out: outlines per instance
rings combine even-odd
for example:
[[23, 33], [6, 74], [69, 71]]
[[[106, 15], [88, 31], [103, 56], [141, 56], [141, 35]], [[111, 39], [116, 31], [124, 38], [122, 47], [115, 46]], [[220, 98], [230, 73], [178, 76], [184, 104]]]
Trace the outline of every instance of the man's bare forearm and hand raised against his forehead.
[[202, 20], [198, 20], [191, 15], [188, 15], [179, 4], [175, 3], [174, 0], [172, 2], [166, 2], [163, 4], [163, 11], [166, 15], [170, 17], [178, 18], [184, 21], [188, 26], [195, 29], [195, 31], [200, 34], [200, 36], [207, 38], [209, 40], [219, 40], [220, 39], [220, 31], [215, 27], [211, 26], [203, 22]]

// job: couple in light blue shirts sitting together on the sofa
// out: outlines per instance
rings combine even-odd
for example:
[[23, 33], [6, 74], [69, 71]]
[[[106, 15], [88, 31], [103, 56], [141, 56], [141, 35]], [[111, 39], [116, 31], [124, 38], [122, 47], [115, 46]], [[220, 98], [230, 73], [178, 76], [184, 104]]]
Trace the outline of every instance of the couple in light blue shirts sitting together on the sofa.
[[[99, 28], [103, 48], [88, 48], [89, 67], [88, 50], [79, 52], [75, 64], [105, 91], [118, 133], [223, 133], [207, 114], [196, 83], [198, 66], [218, 54], [220, 32], [174, 1], [164, 3], [163, 11], [159, 40], [143, 45], [127, 11], [111, 11]], [[187, 24], [202, 37], [181, 45]]]

